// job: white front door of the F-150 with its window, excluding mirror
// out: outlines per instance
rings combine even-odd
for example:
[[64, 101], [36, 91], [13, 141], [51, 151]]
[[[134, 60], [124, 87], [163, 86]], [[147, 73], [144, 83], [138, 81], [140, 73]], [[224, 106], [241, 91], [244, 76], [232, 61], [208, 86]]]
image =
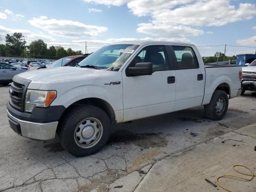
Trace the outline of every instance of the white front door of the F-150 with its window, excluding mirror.
[[168, 46], [146, 46], [126, 70], [139, 62], [152, 62], [152, 75], [126, 76], [122, 70], [124, 122], [174, 110], [176, 75], [170, 57]]

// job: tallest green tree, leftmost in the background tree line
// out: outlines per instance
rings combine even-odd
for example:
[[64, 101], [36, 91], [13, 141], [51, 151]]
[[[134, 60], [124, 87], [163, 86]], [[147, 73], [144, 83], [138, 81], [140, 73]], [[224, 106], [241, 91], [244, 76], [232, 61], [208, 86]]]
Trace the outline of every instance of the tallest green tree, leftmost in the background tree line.
[[22, 41], [24, 36], [22, 33], [15, 32], [13, 35], [6, 34], [6, 55], [22, 56], [26, 41]]

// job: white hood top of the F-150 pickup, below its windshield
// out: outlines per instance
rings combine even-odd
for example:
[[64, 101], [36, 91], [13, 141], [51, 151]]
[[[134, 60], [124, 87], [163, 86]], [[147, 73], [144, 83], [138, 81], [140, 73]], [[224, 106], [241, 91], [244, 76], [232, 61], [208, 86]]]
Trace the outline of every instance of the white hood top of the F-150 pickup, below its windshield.
[[74, 79], [84, 76], [99, 76], [105, 70], [79, 67], [56, 67], [40, 70], [32, 70], [18, 74], [19, 77], [32, 80], [32, 82], [43, 83], [49, 81], [60, 81], [64, 79]]

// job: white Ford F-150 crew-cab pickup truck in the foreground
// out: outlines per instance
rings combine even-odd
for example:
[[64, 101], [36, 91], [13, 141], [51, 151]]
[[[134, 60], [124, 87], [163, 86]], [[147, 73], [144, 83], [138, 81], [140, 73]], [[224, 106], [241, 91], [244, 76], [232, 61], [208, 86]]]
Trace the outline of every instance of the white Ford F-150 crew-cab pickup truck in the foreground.
[[10, 127], [36, 140], [59, 136], [74, 156], [99, 151], [111, 124], [196, 106], [220, 120], [239, 96], [241, 66], [205, 66], [194, 44], [121, 42], [100, 48], [80, 67], [14, 76], [7, 103]]

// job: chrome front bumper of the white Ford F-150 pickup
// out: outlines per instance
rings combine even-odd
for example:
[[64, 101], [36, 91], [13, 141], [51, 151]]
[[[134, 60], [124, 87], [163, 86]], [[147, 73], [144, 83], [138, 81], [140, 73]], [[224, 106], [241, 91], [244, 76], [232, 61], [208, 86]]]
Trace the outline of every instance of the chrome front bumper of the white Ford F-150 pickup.
[[58, 121], [47, 123], [24, 121], [12, 116], [9, 110], [7, 110], [7, 115], [10, 118], [10, 127], [14, 132], [21, 136], [37, 140], [49, 140], [55, 138]]

